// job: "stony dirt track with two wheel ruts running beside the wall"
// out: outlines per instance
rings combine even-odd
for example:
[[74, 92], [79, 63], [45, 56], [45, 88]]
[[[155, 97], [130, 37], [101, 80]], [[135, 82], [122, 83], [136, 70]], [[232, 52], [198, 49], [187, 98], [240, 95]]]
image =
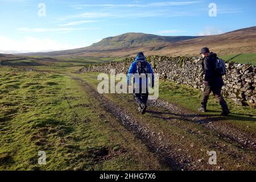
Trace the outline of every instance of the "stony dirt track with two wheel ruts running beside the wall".
[[[103, 109], [111, 113], [113, 117], [123, 123], [127, 130], [141, 139], [150, 151], [159, 156], [159, 162], [164, 166], [168, 166], [171, 170], [212, 170], [226, 169], [230, 166], [226, 162], [222, 163], [224, 167], [212, 166], [208, 164], [207, 160], [198, 159], [196, 152], [194, 152], [195, 154], [193, 153], [195, 149], [192, 146], [192, 149], [188, 149], [186, 144], [178, 144], [174, 141], [174, 137], [176, 137], [174, 134], [163, 132], [160, 127], [159, 129], [150, 127], [142, 122], [142, 118], [135, 117], [125, 108], [118, 106], [109, 98], [99, 94], [92, 85], [77, 77], [73, 77], [73, 79], [84, 85], [86, 93], [100, 102]], [[231, 169], [239, 169], [241, 165], [247, 169], [255, 167], [255, 160], [251, 159], [251, 155], [255, 155], [255, 136], [245, 133], [236, 127], [222, 125], [221, 121], [219, 121], [220, 118], [193, 113], [165, 101], [149, 101], [148, 104], [150, 107], [162, 109], [162, 111], [148, 111], [151, 112], [154, 119], [169, 121], [170, 125], [179, 127], [191, 134], [195, 133], [204, 140], [209, 137], [208, 134], [203, 130], [200, 131], [193, 127], [193, 125], [200, 125], [210, 131], [214, 131], [216, 143], [212, 142], [212, 145], [225, 154], [230, 155], [233, 163]], [[189, 123], [189, 125], [184, 122]], [[228, 148], [226, 144], [229, 145]], [[246, 150], [241, 152], [242, 148]], [[235, 166], [236, 163], [238, 163], [237, 166]]]

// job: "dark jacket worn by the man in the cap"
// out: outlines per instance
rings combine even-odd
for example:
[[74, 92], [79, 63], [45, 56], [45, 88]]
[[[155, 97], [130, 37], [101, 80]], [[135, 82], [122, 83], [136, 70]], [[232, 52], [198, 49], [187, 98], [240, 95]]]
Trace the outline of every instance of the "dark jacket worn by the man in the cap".
[[217, 54], [211, 52], [209, 53], [208, 56], [204, 58], [204, 61], [202, 64], [204, 73], [205, 73], [204, 81], [208, 81], [209, 85], [214, 88], [221, 87], [224, 85], [222, 76], [216, 76], [214, 74], [216, 60], [217, 60]]

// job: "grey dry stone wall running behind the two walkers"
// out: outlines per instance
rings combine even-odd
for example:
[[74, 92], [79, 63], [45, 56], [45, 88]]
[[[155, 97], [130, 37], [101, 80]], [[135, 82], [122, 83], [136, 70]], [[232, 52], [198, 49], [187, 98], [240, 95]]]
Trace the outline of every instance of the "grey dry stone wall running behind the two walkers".
[[[102, 72], [109, 73], [110, 69], [115, 69], [115, 73], [127, 73], [134, 57], [126, 58], [123, 61], [109, 64], [88, 65], [78, 72]], [[155, 73], [159, 73], [160, 78], [186, 84], [193, 88], [203, 88], [203, 68], [202, 60], [195, 57], [168, 57], [168, 56], [148, 56]], [[223, 94], [232, 98], [238, 105], [250, 105], [256, 108], [256, 68], [251, 64], [226, 63], [226, 76], [224, 76], [225, 86]]]

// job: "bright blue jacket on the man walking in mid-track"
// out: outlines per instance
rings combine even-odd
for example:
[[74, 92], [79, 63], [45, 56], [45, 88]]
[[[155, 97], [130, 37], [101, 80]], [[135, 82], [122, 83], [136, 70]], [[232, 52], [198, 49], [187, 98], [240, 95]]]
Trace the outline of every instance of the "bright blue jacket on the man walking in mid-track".
[[[133, 61], [133, 63], [131, 64], [128, 74], [127, 74], [127, 84], [130, 85], [131, 83], [129, 83], [129, 76], [130, 74], [135, 74], [137, 73], [137, 61], [146, 61], [146, 57], [136, 57], [135, 61]], [[148, 73], [152, 74], [152, 87], [154, 87], [154, 72], [153, 69], [151, 68], [150, 63], [147, 62], [147, 68], [148, 68]], [[146, 79], [146, 84], [148, 82], [148, 78]], [[139, 85], [142, 85], [142, 82], [139, 82]]]

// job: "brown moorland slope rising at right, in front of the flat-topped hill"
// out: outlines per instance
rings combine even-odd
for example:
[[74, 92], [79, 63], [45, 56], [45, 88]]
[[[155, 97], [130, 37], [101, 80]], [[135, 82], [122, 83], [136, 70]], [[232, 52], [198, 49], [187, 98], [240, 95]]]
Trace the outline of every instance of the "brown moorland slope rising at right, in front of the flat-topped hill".
[[158, 53], [197, 55], [201, 47], [209, 47], [219, 55], [256, 53], [256, 27], [243, 28], [225, 34], [172, 43]]

